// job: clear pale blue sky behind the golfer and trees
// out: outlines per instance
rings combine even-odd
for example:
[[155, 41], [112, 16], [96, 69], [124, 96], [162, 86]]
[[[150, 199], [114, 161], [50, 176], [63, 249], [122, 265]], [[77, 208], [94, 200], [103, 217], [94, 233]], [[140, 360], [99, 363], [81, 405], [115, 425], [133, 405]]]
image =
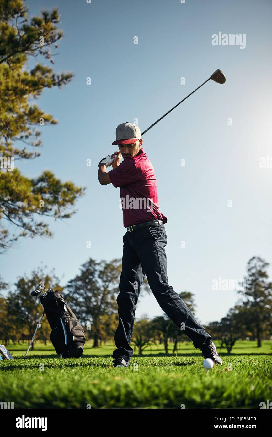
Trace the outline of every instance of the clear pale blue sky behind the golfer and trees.
[[[13, 283], [43, 262], [64, 284], [89, 257], [121, 258], [125, 228], [119, 189], [97, 180], [98, 162], [116, 150], [111, 145], [116, 126], [137, 118], [145, 130], [220, 68], [226, 83], [205, 84], [143, 136], [143, 147], [155, 169], [160, 210], [168, 218], [169, 284], [178, 293], [194, 293], [201, 323], [221, 319], [239, 296], [212, 291], [211, 281], [242, 278], [255, 255], [272, 262], [272, 168], [259, 166], [262, 156], [272, 156], [272, 3], [27, 4], [30, 15], [58, 7], [64, 38], [53, 68], [75, 77], [62, 90], [45, 90], [36, 102], [58, 125], [41, 128], [41, 157], [17, 165], [27, 177], [50, 169], [87, 190], [72, 219], [50, 222], [53, 239], [21, 240], [1, 256], [0, 275]], [[219, 32], [246, 35], [245, 48], [212, 45]], [[153, 295], [140, 299], [136, 317], [143, 314], [162, 314]]]

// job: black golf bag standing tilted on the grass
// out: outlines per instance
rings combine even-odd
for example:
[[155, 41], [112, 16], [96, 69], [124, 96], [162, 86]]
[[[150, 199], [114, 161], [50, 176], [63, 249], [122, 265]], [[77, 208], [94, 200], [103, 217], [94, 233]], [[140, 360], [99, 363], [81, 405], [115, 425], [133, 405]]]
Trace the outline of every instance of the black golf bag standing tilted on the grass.
[[81, 324], [58, 291], [50, 288], [40, 301], [50, 328], [50, 340], [62, 358], [78, 358], [83, 352], [86, 337]]

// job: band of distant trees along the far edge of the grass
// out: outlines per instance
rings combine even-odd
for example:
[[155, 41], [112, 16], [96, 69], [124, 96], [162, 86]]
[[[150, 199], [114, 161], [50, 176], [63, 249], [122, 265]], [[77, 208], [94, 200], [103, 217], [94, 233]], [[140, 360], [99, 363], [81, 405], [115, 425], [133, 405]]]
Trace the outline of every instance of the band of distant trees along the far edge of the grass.
[[[271, 339], [272, 283], [266, 272], [268, 265], [260, 257], [252, 257], [247, 264], [243, 289], [237, 291], [241, 296], [237, 304], [220, 321], [205, 325], [212, 339], [218, 340], [221, 347], [228, 352], [237, 340], [255, 340], [257, 347], [261, 347], [262, 340]], [[38, 299], [31, 297], [30, 291], [37, 288], [41, 281], [46, 288], [51, 287], [63, 293], [84, 326], [87, 339], [93, 341], [93, 347], [112, 341], [118, 324], [116, 297], [119, 293], [121, 270], [120, 260], [97, 262], [89, 259], [80, 267], [80, 273], [75, 278], [61, 286], [54, 272], [45, 273], [39, 268], [32, 271], [29, 278], [17, 279], [14, 291], [0, 278], [0, 290], [5, 291], [5, 297], [0, 295], [1, 343], [30, 341], [43, 312], [42, 305]], [[146, 279], [141, 295], [143, 292], [150, 292]], [[183, 291], [179, 295], [195, 314], [194, 295], [189, 291]], [[43, 319], [36, 340], [46, 344], [50, 332], [47, 320]], [[173, 353], [177, 351], [178, 344], [184, 341], [190, 340], [166, 315], [151, 320], [144, 317], [134, 324], [132, 345], [139, 350], [139, 354], [152, 343], [163, 343], [165, 352], [169, 353], [169, 342], [173, 343]]]

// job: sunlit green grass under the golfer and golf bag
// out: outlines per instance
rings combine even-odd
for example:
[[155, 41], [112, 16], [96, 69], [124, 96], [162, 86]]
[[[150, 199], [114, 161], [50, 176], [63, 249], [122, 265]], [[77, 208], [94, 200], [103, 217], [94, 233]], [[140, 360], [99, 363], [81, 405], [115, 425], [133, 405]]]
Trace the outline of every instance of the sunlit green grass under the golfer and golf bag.
[[126, 369], [111, 367], [113, 344], [92, 349], [87, 343], [82, 358], [67, 360], [51, 343], [36, 343], [26, 359], [27, 345], [9, 345], [16, 359], [0, 361], [0, 402], [14, 402], [14, 408], [259, 409], [271, 400], [271, 345], [238, 342], [230, 355], [218, 349], [223, 366], [208, 372], [191, 343], [167, 356], [154, 345], [143, 357], [135, 354]]

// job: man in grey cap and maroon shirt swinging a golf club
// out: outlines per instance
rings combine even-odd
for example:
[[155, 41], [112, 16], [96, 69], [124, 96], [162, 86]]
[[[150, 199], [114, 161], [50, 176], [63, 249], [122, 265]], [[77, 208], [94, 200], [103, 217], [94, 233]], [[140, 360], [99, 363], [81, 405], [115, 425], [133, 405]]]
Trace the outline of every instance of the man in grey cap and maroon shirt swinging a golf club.
[[[168, 284], [165, 246], [167, 217], [160, 212], [154, 168], [142, 147], [138, 126], [122, 123], [116, 128], [119, 151], [99, 163], [100, 184], [120, 188], [123, 222], [122, 273], [117, 297], [119, 323], [114, 336], [113, 366], [127, 367], [133, 355], [130, 341], [141, 284], [147, 277], [161, 309], [200, 349], [204, 358], [222, 365], [211, 336], [197, 323], [190, 309]], [[123, 161], [121, 159], [123, 157]], [[106, 167], [112, 166], [107, 173]]]

